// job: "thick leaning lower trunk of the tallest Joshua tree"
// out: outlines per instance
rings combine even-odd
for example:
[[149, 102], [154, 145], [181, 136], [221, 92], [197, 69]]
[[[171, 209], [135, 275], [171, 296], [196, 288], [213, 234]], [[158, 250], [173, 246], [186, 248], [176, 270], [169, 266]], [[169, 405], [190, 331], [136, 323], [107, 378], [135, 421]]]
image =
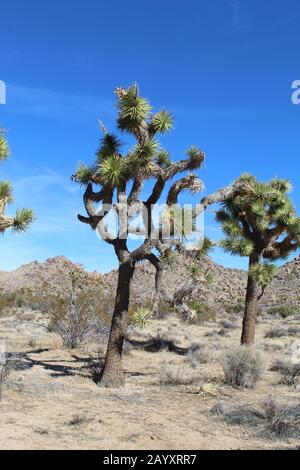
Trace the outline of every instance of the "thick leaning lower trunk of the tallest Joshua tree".
[[133, 273], [134, 264], [132, 262], [125, 261], [120, 264], [115, 309], [100, 383], [103, 387], [121, 387], [125, 382], [122, 350], [128, 325], [128, 306]]

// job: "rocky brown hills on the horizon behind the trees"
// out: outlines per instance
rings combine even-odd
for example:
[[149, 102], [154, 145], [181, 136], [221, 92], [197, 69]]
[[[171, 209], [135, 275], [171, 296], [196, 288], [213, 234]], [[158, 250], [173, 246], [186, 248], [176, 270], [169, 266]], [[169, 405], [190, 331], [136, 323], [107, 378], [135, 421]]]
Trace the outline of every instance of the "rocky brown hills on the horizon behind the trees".
[[[183, 286], [189, 278], [191, 265], [189, 255], [178, 255], [176, 262], [167, 266], [164, 275], [164, 288], [172, 294]], [[193, 292], [193, 298], [207, 303], [236, 303], [243, 300], [247, 274], [239, 269], [228, 269], [205, 259], [202, 270], [209, 270], [211, 282], [209, 285], [198, 284]], [[3, 289], [13, 291], [23, 286], [42, 288], [44, 283], [50, 284], [54, 289], [63, 289], [69, 283], [68, 272], [75, 267], [70, 260], [63, 256], [48, 259], [45, 263], [33, 261], [11, 272], [0, 272], [0, 282]], [[86, 273], [87, 279], [101, 283], [103, 295], [113, 300], [117, 283], [117, 271], [108, 274]], [[137, 266], [134, 281], [132, 301], [145, 303], [152, 298], [154, 292], [154, 268], [149, 264]], [[300, 300], [300, 257], [286, 263], [279, 269], [278, 276], [272, 286], [266, 291], [263, 303], [273, 305], [277, 303], [299, 304]]]

